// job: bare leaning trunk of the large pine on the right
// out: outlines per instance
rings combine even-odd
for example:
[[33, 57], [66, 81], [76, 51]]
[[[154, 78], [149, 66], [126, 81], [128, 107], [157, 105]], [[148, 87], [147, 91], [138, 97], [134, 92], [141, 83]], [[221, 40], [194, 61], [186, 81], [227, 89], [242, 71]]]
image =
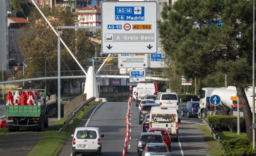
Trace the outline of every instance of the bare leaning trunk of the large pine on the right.
[[247, 131], [247, 139], [251, 142], [252, 141], [252, 112], [250, 109], [250, 105], [248, 99], [245, 94], [245, 88], [236, 85], [237, 96], [239, 97], [239, 101], [241, 103], [241, 107], [243, 109], [243, 116], [245, 118], [246, 124], [246, 131]]

